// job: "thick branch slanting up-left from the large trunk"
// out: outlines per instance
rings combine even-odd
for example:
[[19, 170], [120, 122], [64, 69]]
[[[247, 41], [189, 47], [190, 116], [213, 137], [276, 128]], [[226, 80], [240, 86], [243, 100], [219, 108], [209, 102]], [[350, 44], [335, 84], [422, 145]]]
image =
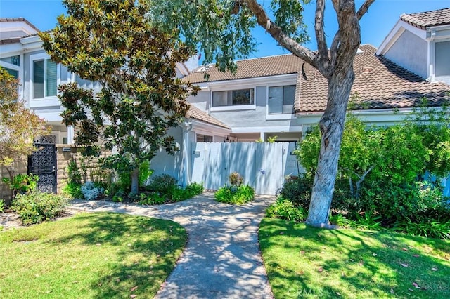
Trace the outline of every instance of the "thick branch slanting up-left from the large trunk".
[[298, 58], [308, 62], [310, 65], [318, 69], [319, 65], [316, 61], [316, 54], [309, 50], [309, 48], [298, 44], [297, 41], [286, 35], [274, 22], [271, 22], [266, 11], [264, 11], [264, 8], [260, 6], [256, 0], [244, 0], [243, 2], [255, 15], [259, 26], [266, 29], [266, 31], [269, 32], [276, 41], [278, 41], [278, 44], [283, 46], [283, 48], [286, 48], [290, 51], [290, 53], [293, 53]]

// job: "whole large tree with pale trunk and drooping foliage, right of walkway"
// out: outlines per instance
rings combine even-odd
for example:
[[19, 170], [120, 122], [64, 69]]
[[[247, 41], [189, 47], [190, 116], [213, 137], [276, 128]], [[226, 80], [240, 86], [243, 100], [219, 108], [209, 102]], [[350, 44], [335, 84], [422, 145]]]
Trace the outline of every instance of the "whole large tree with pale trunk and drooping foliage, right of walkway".
[[[151, 3], [150, 19], [169, 31], [179, 29], [188, 44], [200, 44], [205, 62], [236, 70], [234, 60], [255, 50], [251, 28], [262, 27], [283, 48], [319, 70], [328, 81], [328, 103], [319, 123], [321, 149], [307, 223], [326, 227], [338, 171], [345, 112], [354, 81], [353, 60], [361, 44], [359, 20], [375, 0], [356, 10], [354, 0], [332, 0], [339, 29], [330, 47], [324, 30], [326, 0], [316, 0], [317, 51], [302, 46], [307, 39], [303, 6], [309, 0], [272, 0], [273, 17], [257, 0], [173, 0]], [[328, 2], [329, 3], [329, 2]]]

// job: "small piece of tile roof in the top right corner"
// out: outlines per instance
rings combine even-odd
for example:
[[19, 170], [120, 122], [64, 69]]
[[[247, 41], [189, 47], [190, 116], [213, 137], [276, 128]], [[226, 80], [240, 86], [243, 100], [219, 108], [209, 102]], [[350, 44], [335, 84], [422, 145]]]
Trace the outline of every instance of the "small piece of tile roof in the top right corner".
[[420, 29], [427, 29], [428, 27], [440, 25], [449, 25], [450, 8], [443, 8], [437, 11], [426, 11], [424, 13], [404, 13], [400, 16], [400, 20]]

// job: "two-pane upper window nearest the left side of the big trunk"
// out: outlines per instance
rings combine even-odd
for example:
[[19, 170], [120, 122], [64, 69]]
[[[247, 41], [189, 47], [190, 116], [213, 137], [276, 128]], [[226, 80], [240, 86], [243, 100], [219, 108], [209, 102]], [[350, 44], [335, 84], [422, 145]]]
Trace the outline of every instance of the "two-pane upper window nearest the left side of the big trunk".
[[269, 87], [269, 114], [294, 112], [295, 85]]

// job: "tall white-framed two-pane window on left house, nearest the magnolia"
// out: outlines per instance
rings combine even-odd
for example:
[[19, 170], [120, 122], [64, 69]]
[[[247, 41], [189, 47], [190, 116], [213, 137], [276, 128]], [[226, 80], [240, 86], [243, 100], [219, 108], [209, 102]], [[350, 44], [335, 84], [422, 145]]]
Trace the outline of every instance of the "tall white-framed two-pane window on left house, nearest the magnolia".
[[56, 96], [58, 88], [58, 65], [41, 55], [32, 59], [32, 97], [47, 98]]

